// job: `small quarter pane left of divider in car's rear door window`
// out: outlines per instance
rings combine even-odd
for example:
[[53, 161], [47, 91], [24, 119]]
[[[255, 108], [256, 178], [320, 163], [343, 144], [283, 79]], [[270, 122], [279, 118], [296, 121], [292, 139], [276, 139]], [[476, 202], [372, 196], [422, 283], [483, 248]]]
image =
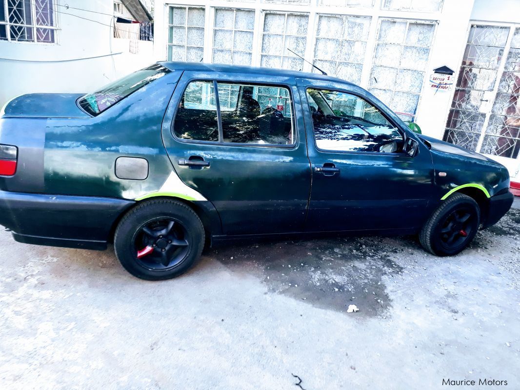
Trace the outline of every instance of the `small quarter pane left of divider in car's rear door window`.
[[186, 87], [173, 123], [178, 138], [218, 142], [213, 81], [192, 81]]

